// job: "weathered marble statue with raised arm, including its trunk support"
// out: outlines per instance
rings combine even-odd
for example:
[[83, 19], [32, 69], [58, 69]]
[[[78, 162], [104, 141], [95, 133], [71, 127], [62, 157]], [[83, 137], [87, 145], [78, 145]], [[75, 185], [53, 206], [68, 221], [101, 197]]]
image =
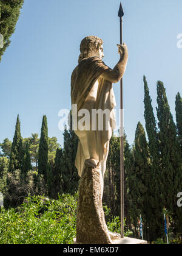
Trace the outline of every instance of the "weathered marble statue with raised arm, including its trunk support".
[[[103, 40], [89, 36], [81, 41], [78, 65], [71, 79], [72, 105], [87, 110], [89, 129], [75, 129], [79, 138], [75, 165], [81, 177], [79, 183], [76, 243], [112, 243], [115, 234], [109, 232], [102, 207], [104, 173], [109, 153], [109, 141], [115, 129], [114, 108], [116, 106], [112, 84], [121, 80], [126, 70], [128, 51], [126, 44], [117, 44], [120, 60], [115, 68], [103, 62]], [[93, 112], [95, 110], [95, 112]], [[103, 115], [103, 126], [98, 125], [97, 110], [107, 110]], [[107, 118], [106, 118], [107, 116]], [[79, 123], [81, 116], [76, 117]], [[93, 121], [95, 120], [95, 121]], [[73, 117], [74, 122], [74, 117]], [[95, 122], [95, 123], [94, 123]], [[93, 124], [94, 123], [94, 124]]]

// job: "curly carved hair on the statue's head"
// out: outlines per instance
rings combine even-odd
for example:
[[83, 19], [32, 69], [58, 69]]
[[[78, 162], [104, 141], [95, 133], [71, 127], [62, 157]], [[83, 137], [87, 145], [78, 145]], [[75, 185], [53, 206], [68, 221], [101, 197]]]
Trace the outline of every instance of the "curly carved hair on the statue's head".
[[84, 58], [89, 57], [90, 52], [98, 51], [99, 47], [103, 45], [103, 40], [99, 37], [95, 37], [94, 35], [90, 35], [89, 37], [85, 37], [80, 44], [80, 52], [78, 63], [81, 62]]

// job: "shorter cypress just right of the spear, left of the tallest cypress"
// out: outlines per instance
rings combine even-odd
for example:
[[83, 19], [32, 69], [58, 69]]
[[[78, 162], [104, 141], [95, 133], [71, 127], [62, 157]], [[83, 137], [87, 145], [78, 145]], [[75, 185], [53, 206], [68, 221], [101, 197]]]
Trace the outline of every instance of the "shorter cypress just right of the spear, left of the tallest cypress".
[[[147, 227], [151, 229], [152, 208], [150, 206], [150, 155], [146, 140], [146, 133], [140, 122], [138, 122], [135, 132], [135, 146], [133, 149], [135, 159], [135, 203], [138, 214], [143, 216], [143, 224], [147, 232]], [[133, 189], [133, 188], [132, 188]], [[140, 215], [138, 215], [138, 218]], [[147, 237], [148, 238], [148, 237]], [[151, 240], [151, 238], [148, 238]]]

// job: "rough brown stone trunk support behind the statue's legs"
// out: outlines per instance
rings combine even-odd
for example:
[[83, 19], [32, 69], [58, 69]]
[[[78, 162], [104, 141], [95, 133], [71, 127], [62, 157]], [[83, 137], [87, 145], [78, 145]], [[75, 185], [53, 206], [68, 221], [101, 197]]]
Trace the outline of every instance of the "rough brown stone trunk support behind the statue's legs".
[[102, 179], [99, 167], [84, 168], [79, 183], [77, 244], [112, 244], [102, 205]]

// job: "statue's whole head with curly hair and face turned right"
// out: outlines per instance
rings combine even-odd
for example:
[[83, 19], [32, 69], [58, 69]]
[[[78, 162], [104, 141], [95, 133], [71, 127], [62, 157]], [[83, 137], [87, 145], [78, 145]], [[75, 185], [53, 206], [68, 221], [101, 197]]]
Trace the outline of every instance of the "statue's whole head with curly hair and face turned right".
[[99, 37], [95, 37], [90, 35], [89, 37], [85, 37], [80, 44], [80, 52], [78, 63], [81, 60], [88, 57], [99, 57], [103, 59], [103, 40]]

